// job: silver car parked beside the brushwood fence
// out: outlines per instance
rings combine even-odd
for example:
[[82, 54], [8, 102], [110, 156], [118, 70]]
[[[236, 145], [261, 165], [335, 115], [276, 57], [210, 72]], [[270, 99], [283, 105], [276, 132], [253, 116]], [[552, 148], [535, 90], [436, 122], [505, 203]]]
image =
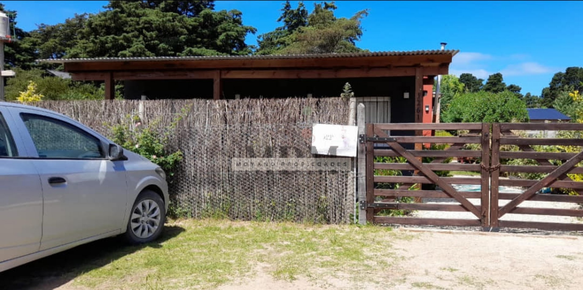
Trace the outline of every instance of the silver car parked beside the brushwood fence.
[[124, 235], [156, 239], [164, 171], [67, 116], [0, 102], [0, 271]]

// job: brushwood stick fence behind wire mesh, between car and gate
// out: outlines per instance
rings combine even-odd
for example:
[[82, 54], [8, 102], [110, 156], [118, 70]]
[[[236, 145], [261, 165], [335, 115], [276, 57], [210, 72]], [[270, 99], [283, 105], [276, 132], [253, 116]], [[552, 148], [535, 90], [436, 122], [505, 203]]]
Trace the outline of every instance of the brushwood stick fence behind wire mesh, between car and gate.
[[[311, 154], [313, 123], [346, 124], [340, 98], [243, 100], [43, 101], [52, 109], [111, 136], [111, 125], [141, 116], [147, 125], [184, 113], [168, 149], [181, 150], [170, 195], [173, 208], [192, 217], [243, 220], [350, 221], [350, 171], [234, 171], [231, 158], [319, 158]], [[140, 108], [142, 107], [142, 108]], [[131, 150], [131, 148], [128, 148]], [[325, 156], [329, 158], [329, 156]]]

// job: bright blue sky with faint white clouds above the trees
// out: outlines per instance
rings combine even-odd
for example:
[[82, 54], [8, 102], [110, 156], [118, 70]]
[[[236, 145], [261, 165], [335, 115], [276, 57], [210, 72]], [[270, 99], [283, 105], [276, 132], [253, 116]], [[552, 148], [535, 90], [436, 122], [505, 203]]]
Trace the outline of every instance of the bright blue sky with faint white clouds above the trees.
[[[96, 13], [107, 1], [2, 1], [17, 10], [18, 26], [55, 24], [74, 13]], [[243, 12], [244, 24], [258, 29], [247, 37], [279, 26], [285, 1], [216, 1], [216, 9]], [[296, 7], [297, 1], [291, 1]], [[309, 10], [315, 1], [304, 1]], [[568, 66], [583, 66], [583, 2], [578, 1], [336, 1], [339, 17], [361, 9], [364, 35], [357, 44], [371, 51], [448, 49], [461, 51], [450, 72], [470, 72], [487, 79], [501, 72], [507, 84], [522, 93], [540, 94], [553, 74]]]

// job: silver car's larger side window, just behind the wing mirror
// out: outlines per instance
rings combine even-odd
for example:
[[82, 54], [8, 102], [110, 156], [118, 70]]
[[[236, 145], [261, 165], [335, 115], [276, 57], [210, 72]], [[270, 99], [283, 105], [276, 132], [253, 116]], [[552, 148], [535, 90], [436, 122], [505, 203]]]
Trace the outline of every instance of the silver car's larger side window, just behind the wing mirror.
[[69, 123], [34, 114], [20, 114], [40, 158], [103, 158], [101, 142]]

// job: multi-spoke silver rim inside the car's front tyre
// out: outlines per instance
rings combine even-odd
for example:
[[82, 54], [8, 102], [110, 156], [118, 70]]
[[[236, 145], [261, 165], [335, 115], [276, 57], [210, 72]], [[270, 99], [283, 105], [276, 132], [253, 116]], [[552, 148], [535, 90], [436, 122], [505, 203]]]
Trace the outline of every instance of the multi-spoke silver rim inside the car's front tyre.
[[151, 199], [142, 200], [132, 211], [130, 227], [134, 235], [141, 239], [152, 236], [160, 226], [160, 207]]

